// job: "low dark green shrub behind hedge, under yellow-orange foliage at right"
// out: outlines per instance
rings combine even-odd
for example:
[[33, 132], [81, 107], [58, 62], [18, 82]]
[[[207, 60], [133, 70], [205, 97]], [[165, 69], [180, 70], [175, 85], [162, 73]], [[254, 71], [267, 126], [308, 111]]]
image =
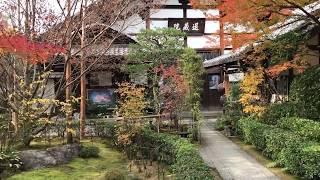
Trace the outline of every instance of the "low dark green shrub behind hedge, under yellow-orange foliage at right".
[[295, 102], [283, 102], [281, 104], [271, 104], [262, 114], [261, 122], [270, 125], [276, 125], [283, 117], [298, 116], [298, 104]]

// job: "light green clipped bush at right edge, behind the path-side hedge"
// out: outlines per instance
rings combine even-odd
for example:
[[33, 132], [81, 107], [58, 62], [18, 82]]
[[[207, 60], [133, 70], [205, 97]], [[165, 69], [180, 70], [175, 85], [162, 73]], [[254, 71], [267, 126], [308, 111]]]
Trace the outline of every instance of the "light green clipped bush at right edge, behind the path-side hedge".
[[292, 117], [282, 118], [279, 120], [277, 126], [282, 129], [291, 130], [310, 140], [320, 142], [320, 122]]

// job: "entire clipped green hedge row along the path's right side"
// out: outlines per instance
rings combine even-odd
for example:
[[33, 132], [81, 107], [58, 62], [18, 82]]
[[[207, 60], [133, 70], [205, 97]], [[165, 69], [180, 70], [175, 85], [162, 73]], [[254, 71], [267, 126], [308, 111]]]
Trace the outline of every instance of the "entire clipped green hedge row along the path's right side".
[[[290, 124], [290, 121], [287, 123]], [[320, 143], [300, 133], [266, 125], [252, 118], [242, 118], [239, 131], [247, 143], [255, 145], [291, 173], [306, 179], [320, 178]]]

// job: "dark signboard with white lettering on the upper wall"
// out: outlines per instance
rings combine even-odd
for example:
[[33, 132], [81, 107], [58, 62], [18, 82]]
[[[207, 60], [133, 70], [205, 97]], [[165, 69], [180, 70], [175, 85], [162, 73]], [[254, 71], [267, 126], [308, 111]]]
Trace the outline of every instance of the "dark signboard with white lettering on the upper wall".
[[181, 30], [190, 35], [203, 35], [206, 20], [204, 18], [197, 19], [181, 19], [169, 18], [168, 27]]

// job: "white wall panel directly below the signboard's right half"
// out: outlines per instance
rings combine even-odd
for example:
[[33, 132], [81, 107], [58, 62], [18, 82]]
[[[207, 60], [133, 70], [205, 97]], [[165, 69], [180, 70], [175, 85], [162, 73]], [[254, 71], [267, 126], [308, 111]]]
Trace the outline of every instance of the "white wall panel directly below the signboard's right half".
[[220, 38], [217, 35], [188, 36], [187, 42], [188, 47], [194, 49], [218, 48], [220, 45]]

